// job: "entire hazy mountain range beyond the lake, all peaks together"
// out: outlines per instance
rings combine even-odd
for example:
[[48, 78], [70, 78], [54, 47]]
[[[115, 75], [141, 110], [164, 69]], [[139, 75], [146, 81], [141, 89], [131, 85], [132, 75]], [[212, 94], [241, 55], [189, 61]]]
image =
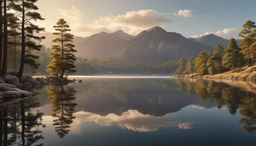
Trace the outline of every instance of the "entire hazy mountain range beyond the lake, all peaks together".
[[[56, 38], [52, 33], [40, 33], [45, 36], [41, 42], [51, 47]], [[77, 57], [114, 57], [129, 60], [178, 60], [182, 57], [196, 58], [201, 51], [213, 51], [217, 44], [227, 47], [229, 40], [215, 36], [205, 35], [200, 38], [185, 38], [179, 33], [167, 32], [161, 27], [153, 27], [131, 36], [122, 30], [114, 33], [101, 32], [89, 37], [74, 37], [73, 44]], [[241, 40], [237, 40], [238, 44]]]

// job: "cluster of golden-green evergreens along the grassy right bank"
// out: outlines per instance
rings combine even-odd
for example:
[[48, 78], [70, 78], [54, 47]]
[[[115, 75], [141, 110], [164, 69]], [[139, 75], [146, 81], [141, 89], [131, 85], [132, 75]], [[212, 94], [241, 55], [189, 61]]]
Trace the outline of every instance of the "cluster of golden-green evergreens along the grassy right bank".
[[[175, 75], [193, 72], [200, 75], [213, 75], [234, 70], [246, 64], [248, 67], [253, 66], [256, 60], [255, 22], [248, 20], [243, 25], [243, 28], [239, 33], [239, 37], [243, 38], [240, 45], [237, 44], [234, 38], [229, 40], [227, 48], [217, 44], [214, 52], [202, 51], [194, 61], [192, 58], [188, 58], [185, 69], [184, 64], [179, 64]], [[179, 62], [182, 62], [182, 60]], [[185, 72], [181, 72], [182, 70], [185, 70]]]

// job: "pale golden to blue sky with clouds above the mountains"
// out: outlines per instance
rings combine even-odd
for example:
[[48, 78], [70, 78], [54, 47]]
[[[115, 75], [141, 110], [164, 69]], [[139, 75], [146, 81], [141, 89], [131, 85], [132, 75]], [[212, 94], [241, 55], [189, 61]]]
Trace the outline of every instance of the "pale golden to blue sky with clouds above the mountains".
[[75, 36], [123, 30], [137, 35], [159, 26], [186, 38], [215, 34], [238, 39], [247, 20], [256, 21], [256, 0], [39, 0], [45, 18], [36, 24], [54, 32], [63, 18]]

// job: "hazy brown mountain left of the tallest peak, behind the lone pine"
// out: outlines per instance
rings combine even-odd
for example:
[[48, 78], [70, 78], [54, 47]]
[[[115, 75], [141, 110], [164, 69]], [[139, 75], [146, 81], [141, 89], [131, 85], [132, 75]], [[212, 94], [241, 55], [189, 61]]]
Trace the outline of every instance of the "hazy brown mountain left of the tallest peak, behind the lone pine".
[[[36, 36], [45, 36], [46, 39], [42, 40], [40, 44], [46, 47], [56, 45], [52, 43], [52, 40], [56, 38], [53, 33], [38, 33]], [[73, 44], [76, 46], [75, 49], [77, 57], [104, 57], [112, 53], [122, 50], [127, 46], [127, 40], [134, 38], [122, 30], [118, 30], [114, 33], [101, 32], [98, 34], [91, 35], [90, 37], [77, 37], [73, 39]]]

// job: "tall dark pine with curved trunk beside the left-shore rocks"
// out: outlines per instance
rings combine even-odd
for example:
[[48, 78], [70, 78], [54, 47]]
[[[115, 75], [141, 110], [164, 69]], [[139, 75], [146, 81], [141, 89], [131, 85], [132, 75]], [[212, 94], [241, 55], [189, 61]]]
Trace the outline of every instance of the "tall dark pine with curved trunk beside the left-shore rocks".
[[25, 56], [26, 53], [31, 54], [33, 50], [38, 50], [42, 48], [42, 45], [37, 45], [31, 39], [41, 42], [45, 37], [36, 37], [34, 33], [39, 33], [44, 31], [44, 28], [40, 28], [31, 23], [32, 20], [44, 20], [41, 15], [33, 10], [38, 10], [38, 7], [34, 4], [38, 0], [10, 0], [11, 8], [17, 12], [17, 16], [21, 20], [17, 21], [17, 24], [20, 25], [21, 29], [21, 60], [20, 60], [20, 69], [16, 75], [19, 79], [22, 78], [25, 65]]

